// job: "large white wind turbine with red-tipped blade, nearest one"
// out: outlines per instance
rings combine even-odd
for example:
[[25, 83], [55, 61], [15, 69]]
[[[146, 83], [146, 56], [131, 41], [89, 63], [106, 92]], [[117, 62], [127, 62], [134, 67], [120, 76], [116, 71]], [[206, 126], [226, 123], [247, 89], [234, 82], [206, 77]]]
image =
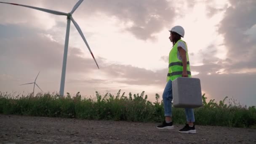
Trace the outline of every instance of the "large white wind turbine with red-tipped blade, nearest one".
[[68, 50], [68, 44], [69, 44], [70, 20], [73, 22], [73, 24], [75, 25], [77, 31], [81, 35], [83, 41], [85, 42], [85, 45], [87, 46], [88, 50], [90, 51], [91, 56], [93, 57], [96, 65], [97, 65], [97, 67], [99, 69], [99, 66], [98, 66], [98, 64], [96, 62], [96, 59], [94, 58], [93, 53], [91, 52], [91, 48], [89, 47], [87, 41], [85, 40], [85, 36], [83, 35], [82, 30], [80, 29], [80, 27], [78, 26], [77, 22], [75, 22], [75, 20], [72, 17], [72, 14], [75, 12], [75, 10], [78, 8], [78, 6], [82, 2], [83, 2], [83, 0], [79, 0], [75, 4], [75, 6], [73, 7], [72, 11], [69, 12], [69, 13], [64, 13], [64, 12], [60, 12], [60, 11], [53, 11], [53, 10], [49, 10], [49, 9], [45, 9], [45, 8], [37, 8], [37, 7], [29, 6], [29, 5], [20, 5], [20, 4], [16, 4], [16, 3], [0, 2], [0, 3], [5, 3], [5, 4], [19, 5], [19, 6], [23, 6], [23, 7], [27, 7], [27, 8], [32, 8], [32, 9], [36, 9], [36, 10], [39, 10], [39, 11], [44, 11], [46, 13], [55, 14], [55, 15], [67, 16], [67, 30], [66, 30], [66, 38], [65, 38], [64, 54], [63, 54], [63, 63], [62, 63], [62, 71], [61, 71], [61, 85], [60, 85], [60, 90], [59, 90], [60, 96], [64, 96], [64, 85], [65, 85], [66, 67], [67, 67], [67, 50]]

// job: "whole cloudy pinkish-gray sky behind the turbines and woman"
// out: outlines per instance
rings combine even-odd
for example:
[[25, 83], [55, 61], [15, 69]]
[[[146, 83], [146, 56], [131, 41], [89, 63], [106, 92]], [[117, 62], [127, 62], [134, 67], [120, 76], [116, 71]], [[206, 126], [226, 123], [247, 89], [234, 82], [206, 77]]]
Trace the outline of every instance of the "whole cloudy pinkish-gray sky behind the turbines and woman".
[[[1, 0], [70, 12], [77, 0]], [[100, 69], [71, 23], [65, 93], [162, 96], [172, 44], [185, 29], [192, 76], [208, 99], [256, 104], [256, 0], [84, 0], [73, 14]], [[0, 4], [0, 91], [59, 93], [66, 16]], [[35, 88], [35, 92], [39, 92]]]

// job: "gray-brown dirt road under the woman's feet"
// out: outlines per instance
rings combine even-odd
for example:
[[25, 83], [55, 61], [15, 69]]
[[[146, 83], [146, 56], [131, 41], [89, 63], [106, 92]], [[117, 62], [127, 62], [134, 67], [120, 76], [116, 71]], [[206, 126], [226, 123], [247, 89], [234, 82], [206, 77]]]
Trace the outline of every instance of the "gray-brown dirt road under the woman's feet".
[[157, 123], [0, 115], [0, 144], [256, 144], [256, 129], [196, 125], [197, 134]]

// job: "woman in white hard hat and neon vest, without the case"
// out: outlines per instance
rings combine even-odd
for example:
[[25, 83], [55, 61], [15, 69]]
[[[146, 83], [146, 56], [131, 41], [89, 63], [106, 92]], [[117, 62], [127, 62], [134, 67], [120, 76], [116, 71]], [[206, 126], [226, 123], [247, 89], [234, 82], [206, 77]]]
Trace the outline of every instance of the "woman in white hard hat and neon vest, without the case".
[[[177, 77], [191, 77], [189, 67], [189, 56], [187, 53], [187, 44], [181, 40], [184, 37], [184, 29], [181, 26], [175, 26], [169, 30], [169, 39], [173, 43], [173, 47], [169, 53], [169, 72], [167, 75], [167, 84], [163, 91], [163, 103], [165, 120], [162, 125], [158, 125], [159, 129], [173, 129], [172, 121], [172, 81]], [[179, 133], [196, 133], [195, 116], [193, 109], [185, 108], [187, 124], [179, 130]]]

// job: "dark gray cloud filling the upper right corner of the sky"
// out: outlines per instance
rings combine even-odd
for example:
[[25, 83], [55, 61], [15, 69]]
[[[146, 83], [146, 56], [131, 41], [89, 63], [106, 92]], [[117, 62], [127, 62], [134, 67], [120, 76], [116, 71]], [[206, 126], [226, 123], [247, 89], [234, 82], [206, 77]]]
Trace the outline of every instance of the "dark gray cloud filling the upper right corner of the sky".
[[[224, 19], [220, 23], [219, 33], [224, 36], [227, 57], [235, 63], [256, 61], [256, 41], [245, 32], [256, 24], [256, 1], [229, 1], [232, 6], [227, 8]], [[246, 10], [245, 10], [246, 8]], [[253, 33], [256, 35], [256, 33]], [[255, 68], [256, 64], [251, 67]]]

